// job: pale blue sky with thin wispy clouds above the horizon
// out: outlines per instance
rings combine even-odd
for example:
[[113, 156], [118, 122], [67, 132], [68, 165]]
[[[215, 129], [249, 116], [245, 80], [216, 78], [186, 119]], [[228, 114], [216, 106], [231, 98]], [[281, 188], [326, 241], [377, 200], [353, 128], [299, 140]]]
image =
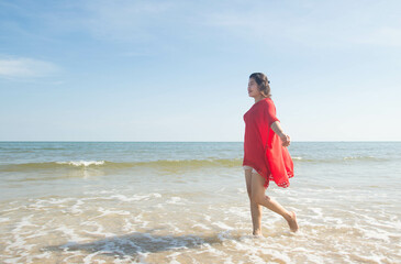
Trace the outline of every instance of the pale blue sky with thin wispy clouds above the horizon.
[[401, 141], [401, 1], [0, 0], [0, 141]]

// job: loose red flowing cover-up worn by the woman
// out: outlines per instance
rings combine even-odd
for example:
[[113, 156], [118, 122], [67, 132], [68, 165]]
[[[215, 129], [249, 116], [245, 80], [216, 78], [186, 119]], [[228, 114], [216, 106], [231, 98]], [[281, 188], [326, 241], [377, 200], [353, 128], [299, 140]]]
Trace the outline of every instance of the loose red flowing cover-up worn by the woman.
[[293, 163], [281, 139], [271, 130], [270, 125], [279, 121], [276, 107], [270, 98], [264, 98], [244, 114], [244, 161], [243, 166], [250, 166], [265, 178], [264, 187], [269, 180], [277, 186], [287, 188], [289, 178], [293, 177]]

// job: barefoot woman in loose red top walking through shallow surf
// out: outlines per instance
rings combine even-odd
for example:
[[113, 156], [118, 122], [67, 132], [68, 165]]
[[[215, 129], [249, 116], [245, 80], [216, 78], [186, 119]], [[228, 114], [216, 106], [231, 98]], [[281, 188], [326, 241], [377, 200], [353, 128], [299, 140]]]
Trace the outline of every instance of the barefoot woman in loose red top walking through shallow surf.
[[286, 188], [293, 176], [293, 164], [287, 146], [290, 136], [285, 134], [276, 117], [276, 107], [270, 99], [270, 86], [261, 73], [249, 76], [248, 95], [255, 103], [244, 114], [244, 161], [246, 188], [250, 201], [253, 234], [261, 235], [261, 206], [282, 216], [292, 232], [298, 230], [297, 216], [265, 195], [269, 180]]

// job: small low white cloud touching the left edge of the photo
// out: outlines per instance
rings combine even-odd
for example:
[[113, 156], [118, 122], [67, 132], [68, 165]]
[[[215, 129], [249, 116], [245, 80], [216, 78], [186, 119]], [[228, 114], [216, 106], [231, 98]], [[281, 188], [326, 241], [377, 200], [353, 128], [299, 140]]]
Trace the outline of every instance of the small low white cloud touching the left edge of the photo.
[[53, 63], [33, 58], [0, 58], [0, 77], [3, 78], [37, 78], [46, 77], [59, 68]]

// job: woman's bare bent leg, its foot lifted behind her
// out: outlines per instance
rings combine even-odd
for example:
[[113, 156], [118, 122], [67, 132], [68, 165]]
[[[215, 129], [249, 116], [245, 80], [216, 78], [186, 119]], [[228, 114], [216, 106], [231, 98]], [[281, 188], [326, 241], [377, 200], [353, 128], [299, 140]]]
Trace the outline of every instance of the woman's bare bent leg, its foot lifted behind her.
[[297, 216], [293, 211], [286, 210], [280, 204], [278, 204], [276, 200], [271, 199], [270, 197], [265, 195], [265, 188], [264, 188], [265, 178], [261, 177], [259, 174], [253, 173], [250, 177], [250, 199], [261, 205], [271, 211], [282, 216], [292, 232], [297, 232], [298, 230], [298, 223], [297, 223]]

